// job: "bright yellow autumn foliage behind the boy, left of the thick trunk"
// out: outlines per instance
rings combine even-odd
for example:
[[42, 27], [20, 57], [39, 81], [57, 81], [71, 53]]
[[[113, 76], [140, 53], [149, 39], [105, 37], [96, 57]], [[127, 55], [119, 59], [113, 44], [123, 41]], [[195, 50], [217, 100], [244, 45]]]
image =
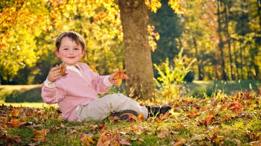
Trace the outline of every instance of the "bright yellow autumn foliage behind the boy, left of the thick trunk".
[[82, 61], [94, 70], [104, 75], [123, 68], [120, 12], [113, 2], [19, 0], [1, 1], [0, 8], [2, 84], [42, 83], [49, 69], [60, 63], [55, 38], [68, 30], [87, 40]]

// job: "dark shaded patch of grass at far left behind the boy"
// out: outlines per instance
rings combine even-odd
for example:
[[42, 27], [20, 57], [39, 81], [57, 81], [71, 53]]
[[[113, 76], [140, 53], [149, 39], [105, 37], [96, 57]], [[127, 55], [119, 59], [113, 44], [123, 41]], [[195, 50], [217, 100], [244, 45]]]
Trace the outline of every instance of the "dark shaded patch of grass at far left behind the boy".
[[22, 103], [22, 102], [43, 102], [41, 97], [41, 88], [31, 88], [27, 90], [13, 90], [12, 93], [5, 95], [6, 103]]

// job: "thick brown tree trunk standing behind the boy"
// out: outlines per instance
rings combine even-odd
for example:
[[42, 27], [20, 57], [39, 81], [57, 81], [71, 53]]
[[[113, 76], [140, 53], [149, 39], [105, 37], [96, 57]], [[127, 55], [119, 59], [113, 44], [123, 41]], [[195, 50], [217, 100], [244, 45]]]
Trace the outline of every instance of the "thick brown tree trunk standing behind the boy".
[[152, 99], [155, 84], [148, 44], [148, 8], [144, 0], [120, 0], [119, 5], [129, 77], [127, 92], [131, 97]]

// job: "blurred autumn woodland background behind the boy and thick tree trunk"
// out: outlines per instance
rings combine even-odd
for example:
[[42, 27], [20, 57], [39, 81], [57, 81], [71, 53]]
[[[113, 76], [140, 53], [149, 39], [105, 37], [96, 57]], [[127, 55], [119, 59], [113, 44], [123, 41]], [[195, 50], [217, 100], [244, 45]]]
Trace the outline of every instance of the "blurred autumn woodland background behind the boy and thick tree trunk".
[[[257, 91], [261, 78], [260, 0], [190, 0], [181, 6], [181, 12], [174, 12], [162, 0], [157, 11], [149, 7], [152, 63], [158, 89], [165, 90], [162, 95], [174, 94], [166, 90], [170, 86], [162, 88], [162, 84], [173, 83], [179, 84], [177, 90], [182, 86], [186, 93], [201, 97], [213, 92]], [[60, 32], [82, 34], [87, 41], [82, 62], [101, 75], [125, 68], [117, 2], [2, 0], [0, 25], [0, 97], [7, 93], [12, 97], [6, 102], [22, 102], [25, 98], [19, 96], [29, 98], [28, 94], [40, 92], [49, 69], [60, 64], [54, 53]]]

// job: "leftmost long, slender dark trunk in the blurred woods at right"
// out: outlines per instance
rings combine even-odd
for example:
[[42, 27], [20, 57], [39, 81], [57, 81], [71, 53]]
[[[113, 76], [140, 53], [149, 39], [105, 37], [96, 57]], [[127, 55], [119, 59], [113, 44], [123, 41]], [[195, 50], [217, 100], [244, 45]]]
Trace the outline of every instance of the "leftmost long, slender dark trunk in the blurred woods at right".
[[224, 47], [224, 42], [222, 40], [222, 35], [221, 35], [221, 18], [220, 18], [220, 1], [217, 1], [218, 3], [218, 36], [219, 36], [219, 44], [218, 44], [218, 49], [220, 51], [220, 58], [221, 58], [221, 71], [222, 71], [222, 79], [227, 80], [227, 73], [225, 72], [225, 59], [224, 59], [224, 53], [223, 53], [223, 47]]

